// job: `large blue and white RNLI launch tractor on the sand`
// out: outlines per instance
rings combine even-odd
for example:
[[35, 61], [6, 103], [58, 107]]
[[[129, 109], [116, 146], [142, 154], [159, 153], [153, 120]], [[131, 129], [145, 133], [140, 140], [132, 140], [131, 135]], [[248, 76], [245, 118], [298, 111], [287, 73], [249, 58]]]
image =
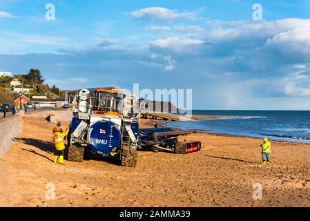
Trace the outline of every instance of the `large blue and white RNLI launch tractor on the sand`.
[[72, 110], [68, 160], [81, 162], [86, 154], [119, 157], [122, 165], [135, 166], [139, 105], [136, 95], [122, 90], [82, 89]]

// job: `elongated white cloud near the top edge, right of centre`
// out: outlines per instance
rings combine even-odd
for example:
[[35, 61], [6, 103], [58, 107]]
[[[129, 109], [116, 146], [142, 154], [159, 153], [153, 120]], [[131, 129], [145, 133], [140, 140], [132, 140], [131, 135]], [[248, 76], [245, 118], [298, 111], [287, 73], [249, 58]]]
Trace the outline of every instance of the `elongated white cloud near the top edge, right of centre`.
[[162, 7], [142, 8], [130, 12], [130, 16], [137, 19], [159, 19], [171, 21], [175, 19], [195, 19], [197, 13], [195, 12], [177, 12], [177, 10], [170, 10]]

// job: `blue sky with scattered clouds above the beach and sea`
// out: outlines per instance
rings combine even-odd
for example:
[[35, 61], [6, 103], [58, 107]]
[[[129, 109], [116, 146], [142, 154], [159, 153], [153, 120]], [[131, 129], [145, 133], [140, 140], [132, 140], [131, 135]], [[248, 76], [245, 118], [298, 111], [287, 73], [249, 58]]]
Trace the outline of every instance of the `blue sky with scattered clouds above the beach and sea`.
[[0, 71], [188, 88], [194, 109], [309, 110], [309, 17], [307, 0], [0, 0]]

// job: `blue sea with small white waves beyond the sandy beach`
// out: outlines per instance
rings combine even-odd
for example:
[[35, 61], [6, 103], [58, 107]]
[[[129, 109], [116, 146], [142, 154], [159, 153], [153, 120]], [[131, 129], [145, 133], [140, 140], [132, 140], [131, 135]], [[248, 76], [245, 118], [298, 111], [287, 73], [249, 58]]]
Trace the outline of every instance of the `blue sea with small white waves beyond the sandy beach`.
[[310, 144], [310, 111], [194, 110], [193, 115], [224, 117], [198, 119], [193, 122], [169, 122], [168, 125], [208, 133], [267, 137], [271, 140]]

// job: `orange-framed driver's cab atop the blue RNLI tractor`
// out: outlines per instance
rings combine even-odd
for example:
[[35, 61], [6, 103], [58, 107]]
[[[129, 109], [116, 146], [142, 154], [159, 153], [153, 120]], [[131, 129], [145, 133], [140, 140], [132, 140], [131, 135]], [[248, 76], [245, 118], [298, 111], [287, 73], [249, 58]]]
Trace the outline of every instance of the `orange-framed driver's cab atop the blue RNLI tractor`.
[[122, 115], [122, 90], [96, 89], [93, 95], [93, 113], [100, 115]]

